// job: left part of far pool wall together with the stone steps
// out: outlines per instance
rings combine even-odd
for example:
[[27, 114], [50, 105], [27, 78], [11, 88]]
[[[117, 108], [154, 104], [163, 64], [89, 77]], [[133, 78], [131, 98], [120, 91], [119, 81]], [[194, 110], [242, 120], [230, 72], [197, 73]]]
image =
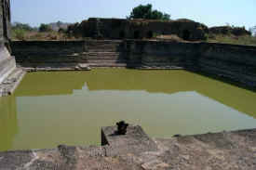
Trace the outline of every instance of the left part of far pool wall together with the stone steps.
[[13, 55], [22, 67], [66, 67], [78, 64], [117, 66], [126, 63], [122, 41], [16, 41], [11, 43]]

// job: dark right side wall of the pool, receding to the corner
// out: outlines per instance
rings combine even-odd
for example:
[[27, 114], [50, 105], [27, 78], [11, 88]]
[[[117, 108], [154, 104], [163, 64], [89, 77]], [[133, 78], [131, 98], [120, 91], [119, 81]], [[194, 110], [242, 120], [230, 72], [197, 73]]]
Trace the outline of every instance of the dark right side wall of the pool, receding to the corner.
[[201, 43], [199, 72], [256, 87], [256, 46]]

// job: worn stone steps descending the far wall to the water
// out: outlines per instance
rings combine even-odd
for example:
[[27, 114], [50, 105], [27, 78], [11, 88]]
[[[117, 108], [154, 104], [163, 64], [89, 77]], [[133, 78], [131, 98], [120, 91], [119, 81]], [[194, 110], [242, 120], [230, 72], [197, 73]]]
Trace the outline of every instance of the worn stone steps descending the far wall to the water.
[[90, 41], [86, 51], [89, 67], [127, 67], [122, 41]]

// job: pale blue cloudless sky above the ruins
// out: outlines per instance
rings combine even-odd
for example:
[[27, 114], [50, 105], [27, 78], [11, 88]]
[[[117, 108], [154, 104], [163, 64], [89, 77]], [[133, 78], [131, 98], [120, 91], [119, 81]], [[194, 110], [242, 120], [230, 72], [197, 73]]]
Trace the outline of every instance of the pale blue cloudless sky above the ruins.
[[10, 0], [12, 21], [40, 23], [80, 22], [89, 17], [126, 18], [133, 7], [152, 4], [171, 19], [187, 18], [219, 26], [256, 25], [256, 0]]

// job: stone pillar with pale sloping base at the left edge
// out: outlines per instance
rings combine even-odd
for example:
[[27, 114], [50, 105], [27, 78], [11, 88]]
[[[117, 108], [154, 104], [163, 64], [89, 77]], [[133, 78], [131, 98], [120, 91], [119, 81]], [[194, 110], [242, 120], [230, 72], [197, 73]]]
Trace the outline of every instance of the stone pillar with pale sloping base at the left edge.
[[16, 68], [16, 62], [10, 56], [10, 2], [0, 0], [0, 84]]

